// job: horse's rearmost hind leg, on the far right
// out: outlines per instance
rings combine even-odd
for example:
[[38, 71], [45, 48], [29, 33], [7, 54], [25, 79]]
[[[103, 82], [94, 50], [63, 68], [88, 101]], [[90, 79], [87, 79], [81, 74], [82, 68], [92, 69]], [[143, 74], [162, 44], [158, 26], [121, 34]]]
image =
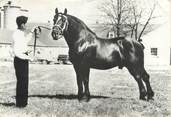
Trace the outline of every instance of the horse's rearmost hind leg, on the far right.
[[150, 99], [153, 99], [153, 96], [154, 96], [154, 92], [151, 88], [151, 85], [150, 85], [150, 76], [149, 74], [145, 71], [143, 71], [143, 74], [142, 74], [142, 78], [143, 78], [143, 81], [145, 82], [146, 84], [146, 87], [147, 87], [147, 100], [150, 100]]

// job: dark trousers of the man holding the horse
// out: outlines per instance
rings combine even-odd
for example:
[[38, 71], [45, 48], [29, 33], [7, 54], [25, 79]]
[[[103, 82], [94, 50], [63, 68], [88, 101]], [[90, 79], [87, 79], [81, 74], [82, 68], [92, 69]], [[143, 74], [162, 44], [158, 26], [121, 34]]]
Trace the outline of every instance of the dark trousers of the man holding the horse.
[[25, 107], [27, 105], [28, 100], [28, 60], [23, 60], [18, 57], [15, 57], [14, 67], [17, 77], [16, 106]]

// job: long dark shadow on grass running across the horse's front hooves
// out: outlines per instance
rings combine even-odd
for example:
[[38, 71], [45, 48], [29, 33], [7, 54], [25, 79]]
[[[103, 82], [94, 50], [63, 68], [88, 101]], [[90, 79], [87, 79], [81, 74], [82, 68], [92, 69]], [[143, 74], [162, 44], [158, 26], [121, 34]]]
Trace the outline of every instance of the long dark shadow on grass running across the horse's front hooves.
[[[77, 95], [74, 94], [70, 94], [70, 95], [65, 95], [65, 94], [57, 94], [57, 95], [29, 95], [29, 97], [38, 97], [38, 98], [56, 98], [56, 99], [69, 99], [69, 100], [73, 100], [73, 99], [78, 99]], [[90, 96], [91, 99], [93, 98], [109, 98], [107, 96], [96, 96], [96, 95], [91, 95]]]

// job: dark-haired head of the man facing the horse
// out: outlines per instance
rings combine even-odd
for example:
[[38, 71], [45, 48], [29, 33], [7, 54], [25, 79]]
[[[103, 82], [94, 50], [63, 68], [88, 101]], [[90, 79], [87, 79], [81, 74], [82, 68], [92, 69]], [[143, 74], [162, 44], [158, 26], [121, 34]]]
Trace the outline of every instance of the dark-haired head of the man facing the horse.
[[22, 29], [22, 30], [25, 30], [25, 24], [27, 23], [27, 20], [28, 20], [28, 17], [26, 16], [18, 16], [16, 18], [16, 23], [17, 23], [17, 26], [18, 26], [18, 29]]

